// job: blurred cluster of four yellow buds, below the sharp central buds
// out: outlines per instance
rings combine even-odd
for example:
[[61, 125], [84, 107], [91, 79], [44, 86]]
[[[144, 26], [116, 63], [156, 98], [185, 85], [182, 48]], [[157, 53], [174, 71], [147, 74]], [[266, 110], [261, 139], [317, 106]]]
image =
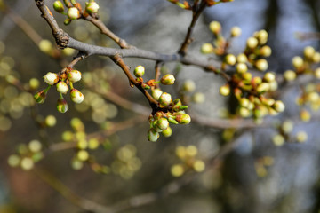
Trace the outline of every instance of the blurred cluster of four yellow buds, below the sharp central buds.
[[202, 172], [205, 169], [205, 164], [198, 159], [198, 150], [196, 146], [178, 146], [175, 154], [180, 159], [180, 163], [173, 164], [171, 173], [173, 177], [180, 177], [188, 170]]

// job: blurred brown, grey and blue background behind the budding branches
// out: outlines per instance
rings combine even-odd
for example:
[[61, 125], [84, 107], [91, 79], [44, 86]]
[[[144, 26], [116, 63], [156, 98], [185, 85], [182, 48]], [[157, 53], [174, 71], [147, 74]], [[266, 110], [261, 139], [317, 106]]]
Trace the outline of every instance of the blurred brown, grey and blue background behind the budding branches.
[[[45, 2], [52, 8], [54, 1]], [[84, 1], [78, 2], [84, 5]], [[164, 0], [96, 2], [108, 28], [149, 51], [177, 51], [192, 18], [191, 12]], [[73, 104], [66, 96], [69, 110], [60, 114], [54, 88], [42, 105], [36, 105], [32, 96], [45, 88], [42, 77], [60, 72], [76, 51], [56, 49], [34, 1], [0, 0], [0, 5], [0, 213], [319, 212], [318, 120], [294, 122], [292, 136], [303, 131], [308, 139], [297, 143], [286, 138], [281, 146], [273, 143], [277, 134], [273, 126], [237, 131], [203, 122], [174, 126], [172, 137], [149, 142], [148, 101], [129, 86], [110, 59], [98, 56], [76, 64], [83, 80], [75, 83], [75, 88], [84, 93], [84, 103]], [[292, 57], [302, 55], [305, 46], [318, 50], [318, 38], [298, 39], [301, 34], [319, 31], [317, 8], [317, 0], [217, 4], [198, 20], [189, 54], [206, 59], [200, 48], [202, 43], [212, 42], [208, 28], [212, 20], [220, 21], [225, 36], [233, 26], [242, 28], [242, 36], [231, 44], [230, 51], [235, 54], [244, 51], [247, 37], [265, 28], [273, 51], [269, 70], [282, 74], [292, 68]], [[92, 24], [75, 20], [64, 26], [66, 17], [57, 12], [53, 15], [70, 36], [116, 47]], [[154, 61], [125, 62], [130, 67], [145, 66], [146, 78], [154, 75]], [[220, 76], [175, 63], [166, 64], [162, 72], [177, 74], [175, 85], [162, 89], [174, 99], [183, 96], [191, 116], [216, 121], [225, 114], [229, 102], [219, 94], [224, 83]], [[196, 89], [181, 91], [190, 79]], [[280, 91], [278, 99], [284, 100], [286, 111], [272, 120], [275, 126], [288, 118], [296, 121], [299, 95], [299, 86]], [[317, 113], [313, 114], [316, 118]], [[88, 162], [79, 160], [72, 142], [76, 140], [79, 147], [84, 138], [88, 138], [82, 148], [90, 154]], [[179, 165], [186, 159], [204, 162], [205, 170], [184, 169], [180, 174]]]

